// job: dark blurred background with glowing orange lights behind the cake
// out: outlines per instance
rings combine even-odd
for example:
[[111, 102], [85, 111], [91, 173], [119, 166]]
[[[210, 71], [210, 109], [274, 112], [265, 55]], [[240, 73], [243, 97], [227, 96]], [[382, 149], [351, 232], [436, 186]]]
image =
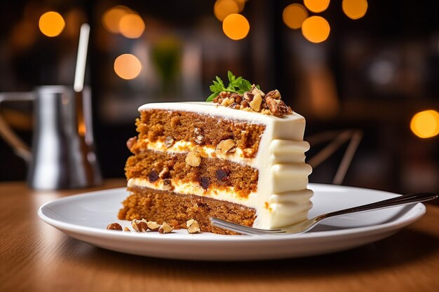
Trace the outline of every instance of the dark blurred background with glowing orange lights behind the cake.
[[[105, 178], [123, 177], [138, 106], [205, 100], [231, 70], [280, 90], [306, 117], [309, 158], [338, 139], [311, 182], [332, 183], [362, 134], [342, 184], [439, 191], [439, 15], [428, 1], [10, 1], [0, 10], [0, 92], [73, 86], [84, 22]], [[0, 114], [31, 143], [31, 103], [4, 102]], [[0, 139], [0, 181], [26, 173]]]

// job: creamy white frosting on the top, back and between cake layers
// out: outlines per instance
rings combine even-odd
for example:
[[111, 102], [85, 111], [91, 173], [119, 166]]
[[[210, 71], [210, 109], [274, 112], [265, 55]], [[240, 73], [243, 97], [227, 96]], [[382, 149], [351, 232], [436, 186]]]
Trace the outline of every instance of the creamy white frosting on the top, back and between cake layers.
[[[306, 218], [311, 209], [311, 190], [306, 189], [311, 167], [306, 165], [304, 152], [309, 144], [303, 141], [305, 119], [297, 113], [278, 118], [261, 113], [229, 109], [217, 106], [212, 102], [174, 102], [144, 104], [139, 111], [148, 109], [163, 109], [169, 111], [189, 111], [203, 115], [219, 116], [229, 120], [244, 120], [249, 123], [265, 125], [259, 151], [255, 158], [242, 160], [242, 151], [227, 155], [227, 159], [250, 165], [259, 170], [257, 192], [247, 198], [238, 197], [233, 190], [221, 192], [205, 192], [194, 184], [173, 181], [175, 193], [194, 194], [226, 200], [244, 206], [255, 208], [257, 218], [254, 227], [277, 228], [289, 225]], [[178, 141], [177, 141], [178, 143]], [[174, 148], [166, 151], [186, 152], [194, 147], [190, 142], [175, 144]], [[182, 147], [179, 147], [182, 146]], [[161, 144], [149, 144], [151, 150], [163, 151]], [[215, 151], [215, 149], [207, 149]], [[149, 183], [147, 179], [130, 179], [129, 186], [147, 186], [161, 189], [161, 183]]]

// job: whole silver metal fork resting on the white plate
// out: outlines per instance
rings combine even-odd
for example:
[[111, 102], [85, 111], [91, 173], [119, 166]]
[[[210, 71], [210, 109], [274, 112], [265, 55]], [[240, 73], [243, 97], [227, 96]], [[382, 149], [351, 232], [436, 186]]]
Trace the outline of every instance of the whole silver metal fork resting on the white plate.
[[219, 228], [224, 228], [227, 230], [235, 231], [241, 234], [247, 235], [282, 235], [282, 234], [294, 234], [294, 233], [302, 233], [311, 230], [316, 224], [324, 219], [331, 218], [334, 216], [341, 216], [345, 214], [359, 213], [364, 211], [371, 211], [377, 209], [384, 209], [389, 207], [398, 206], [401, 204], [410, 204], [415, 202], [425, 202], [428, 200], [433, 200], [438, 195], [433, 193], [412, 193], [407, 195], [400, 195], [398, 197], [393, 197], [388, 200], [383, 200], [379, 202], [374, 202], [371, 204], [363, 204], [358, 207], [352, 207], [348, 209], [342, 209], [339, 211], [334, 211], [326, 214], [318, 215], [311, 219], [304, 219], [303, 221], [299, 221], [293, 225], [285, 226], [283, 228], [276, 229], [259, 229], [252, 228], [241, 224], [231, 223], [229, 221], [224, 221], [219, 218], [210, 217], [210, 221], [212, 225], [215, 225]]

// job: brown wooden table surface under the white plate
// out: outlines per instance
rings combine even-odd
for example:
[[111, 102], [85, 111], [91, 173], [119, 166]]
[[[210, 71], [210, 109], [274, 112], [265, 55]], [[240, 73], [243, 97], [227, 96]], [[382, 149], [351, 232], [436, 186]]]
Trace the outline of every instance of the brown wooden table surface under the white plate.
[[[100, 188], [123, 186], [106, 181]], [[439, 207], [388, 239], [309, 258], [241, 263], [107, 251], [43, 223], [41, 204], [88, 190], [0, 183], [0, 291], [438, 291]]]

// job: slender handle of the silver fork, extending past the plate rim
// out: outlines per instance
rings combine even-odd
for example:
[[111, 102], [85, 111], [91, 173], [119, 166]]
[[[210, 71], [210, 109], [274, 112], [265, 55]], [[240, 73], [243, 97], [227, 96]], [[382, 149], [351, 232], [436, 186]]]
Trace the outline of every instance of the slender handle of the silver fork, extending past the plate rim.
[[400, 195], [398, 197], [392, 197], [388, 200], [383, 200], [379, 202], [374, 202], [371, 204], [363, 204], [361, 206], [342, 209], [339, 211], [330, 212], [327, 214], [322, 214], [320, 216], [317, 216], [318, 221], [323, 220], [325, 218], [333, 217], [333, 216], [339, 216], [344, 214], [351, 214], [351, 213], [358, 213], [362, 211], [371, 211], [371, 210], [377, 210], [377, 209], [384, 209], [389, 207], [398, 206], [401, 204], [410, 204], [414, 202], [425, 202], [428, 200], [434, 200], [437, 198], [438, 195], [435, 195], [433, 193], [412, 193], [407, 195]]

